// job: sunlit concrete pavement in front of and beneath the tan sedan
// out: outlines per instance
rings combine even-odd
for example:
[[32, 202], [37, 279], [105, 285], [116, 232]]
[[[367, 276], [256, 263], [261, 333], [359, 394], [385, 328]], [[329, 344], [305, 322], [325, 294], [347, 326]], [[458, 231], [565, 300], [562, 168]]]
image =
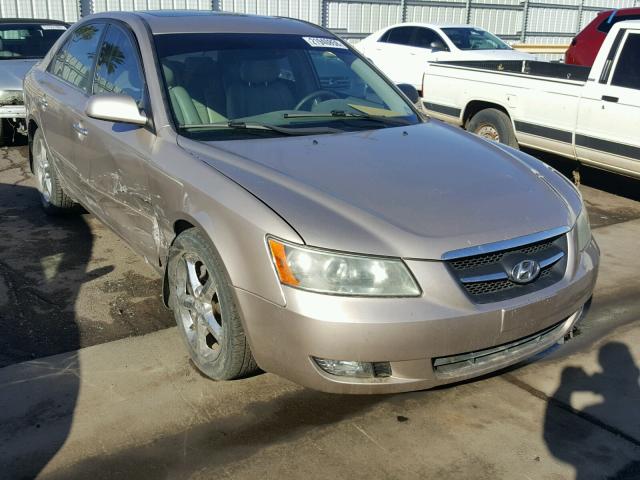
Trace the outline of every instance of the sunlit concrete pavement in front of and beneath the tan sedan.
[[582, 333], [544, 358], [394, 396], [225, 383], [175, 329], [0, 369], [0, 476], [640, 478], [640, 221], [600, 228]]

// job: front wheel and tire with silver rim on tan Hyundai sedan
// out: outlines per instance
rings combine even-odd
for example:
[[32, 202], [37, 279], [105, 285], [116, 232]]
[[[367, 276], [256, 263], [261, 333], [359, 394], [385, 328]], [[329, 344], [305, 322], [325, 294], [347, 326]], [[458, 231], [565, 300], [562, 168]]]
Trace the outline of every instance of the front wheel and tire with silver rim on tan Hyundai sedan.
[[256, 372], [229, 275], [209, 239], [196, 228], [182, 232], [167, 268], [169, 304], [196, 367], [213, 380]]

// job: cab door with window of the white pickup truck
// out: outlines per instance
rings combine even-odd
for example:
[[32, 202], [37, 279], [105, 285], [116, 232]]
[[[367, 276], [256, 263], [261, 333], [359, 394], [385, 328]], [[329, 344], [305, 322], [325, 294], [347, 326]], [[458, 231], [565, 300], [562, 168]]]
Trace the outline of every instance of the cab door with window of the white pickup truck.
[[585, 163], [640, 175], [640, 31], [621, 30], [611, 68], [587, 82], [576, 125], [576, 155]]

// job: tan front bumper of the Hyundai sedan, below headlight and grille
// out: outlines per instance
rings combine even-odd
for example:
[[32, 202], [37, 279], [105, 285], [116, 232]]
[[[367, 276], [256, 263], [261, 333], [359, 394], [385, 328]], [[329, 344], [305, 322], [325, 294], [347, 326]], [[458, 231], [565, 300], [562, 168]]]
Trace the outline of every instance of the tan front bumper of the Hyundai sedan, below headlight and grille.
[[[287, 305], [281, 307], [241, 289], [236, 296], [263, 370], [327, 392], [420, 390], [499, 370], [563, 338], [592, 295], [599, 264], [595, 241], [574, 252], [556, 284], [490, 304], [472, 303], [446, 266], [432, 261], [407, 261], [425, 292], [420, 298], [336, 297], [284, 287]], [[392, 374], [338, 377], [312, 357], [390, 362]]]

